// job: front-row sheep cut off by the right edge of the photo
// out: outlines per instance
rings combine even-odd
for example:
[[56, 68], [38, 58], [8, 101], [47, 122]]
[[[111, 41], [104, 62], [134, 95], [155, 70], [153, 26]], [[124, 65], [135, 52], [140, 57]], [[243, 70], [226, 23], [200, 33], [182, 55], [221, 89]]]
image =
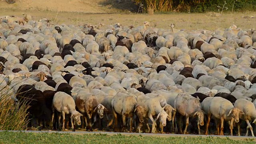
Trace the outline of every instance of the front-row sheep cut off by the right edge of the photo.
[[[234, 107], [240, 109], [244, 113], [244, 115], [241, 114], [239, 116], [239, 118], [245, 120], [248, 125], [246, 128], [245, 136], [248, 136], [249, 128], [252, 132], [252, 136], [254, 136], [252, 126], [250, 124], [250, 121], [253, 119], [254, 120], [252, 123], [256, 122], [256, 108], [255, 108], [254, 104], [252, 102], [249, 102], [246, 99], [240, 98], [240, 99], [236, 100]], [[238, 124], [238, 136], [240, 136], [240, 124]]]

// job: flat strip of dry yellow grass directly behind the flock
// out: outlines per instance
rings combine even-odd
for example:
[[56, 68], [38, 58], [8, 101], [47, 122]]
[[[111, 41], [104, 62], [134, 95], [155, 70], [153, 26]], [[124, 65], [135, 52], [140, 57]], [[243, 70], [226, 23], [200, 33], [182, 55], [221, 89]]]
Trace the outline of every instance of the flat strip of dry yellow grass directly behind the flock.
[[[44, 11], [44, 12], [29, 12], [34, 20], [40, 20], [42, 18], [48, 18], [54, 21], [57, 12]], [[22, 16], [21, 12], [13, 12], [10, 10], [0, 10], [0, 16], [2, 15], [15, 15]], [[169, 29], [168, 25], [175, 24], [177, 29], [186, 30], [216, 30], [217, 28], [229, 28], [232, 24], [242, 28], [250, 29], [255, 28], [256, 18], [242, 18], [242, 16], [254, 16], [256, 12], [237, 13], [222, 13], [222, 15], [215, 17], [210, 13], [206, 14], [185, 14], [185, 13], [172, 13], [172, 14], [154, 14], [152, 16], [148, 14], [84, 14], [78, 12], [58, 12], [58, 16], [54, 24], [99, 24], [104, 23], [105, 26], [102, 29], [109, 28], [109, 25], [113, 25], [120, 22], [123, 26], [142, 26], [144, 21], [148, 21], [151, 24], [157, 22], [157, 28]], [[135, 21], [135, 22], [134, 22]]]

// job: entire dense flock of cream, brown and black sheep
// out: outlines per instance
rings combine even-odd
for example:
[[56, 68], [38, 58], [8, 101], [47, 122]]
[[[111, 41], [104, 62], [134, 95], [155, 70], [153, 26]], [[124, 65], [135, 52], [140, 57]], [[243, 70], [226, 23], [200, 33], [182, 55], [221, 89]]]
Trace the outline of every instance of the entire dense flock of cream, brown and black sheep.
[[29, 105], [29, 127], [254, 136], [255, 30], [101, 26], [0, 17], [0, 102]]

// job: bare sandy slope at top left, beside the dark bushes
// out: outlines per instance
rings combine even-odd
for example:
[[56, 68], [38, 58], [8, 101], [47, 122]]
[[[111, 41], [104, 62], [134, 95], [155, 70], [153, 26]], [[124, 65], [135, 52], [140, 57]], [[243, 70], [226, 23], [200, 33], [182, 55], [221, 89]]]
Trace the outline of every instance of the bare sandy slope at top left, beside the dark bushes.
[[116, 13], [134, 11], [136, 6], [131, 0], [117, 4], [116, 0], [16, 0], [15, 4], [7, 4], [0, 0], [1, 10], [13, 11], [59, 11], [84, 13]]

